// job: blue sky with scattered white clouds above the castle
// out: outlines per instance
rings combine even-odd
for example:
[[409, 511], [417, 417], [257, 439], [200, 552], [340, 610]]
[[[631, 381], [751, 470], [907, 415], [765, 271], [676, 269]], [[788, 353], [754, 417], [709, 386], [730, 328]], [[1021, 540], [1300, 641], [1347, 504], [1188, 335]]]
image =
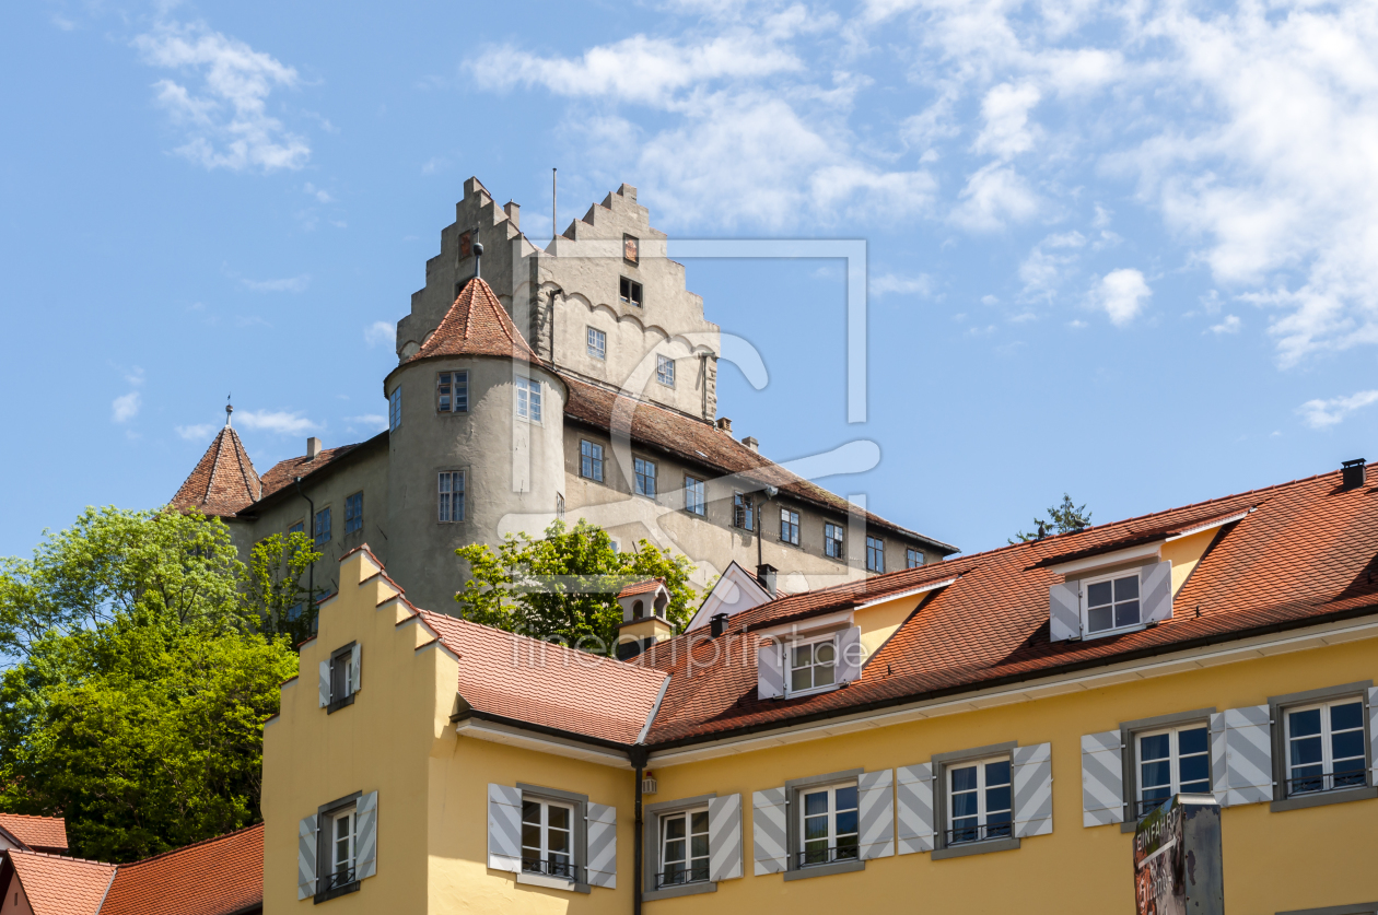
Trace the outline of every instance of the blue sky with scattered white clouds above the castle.
[[719, 415], [966, 551], [1378, 458], [1378, 4], [29, 0], [0, 10], [0, 555], [165, 503], [233, 397], [259, 471], [384, 426], [464, 179], [561, 229], [623, 182]]

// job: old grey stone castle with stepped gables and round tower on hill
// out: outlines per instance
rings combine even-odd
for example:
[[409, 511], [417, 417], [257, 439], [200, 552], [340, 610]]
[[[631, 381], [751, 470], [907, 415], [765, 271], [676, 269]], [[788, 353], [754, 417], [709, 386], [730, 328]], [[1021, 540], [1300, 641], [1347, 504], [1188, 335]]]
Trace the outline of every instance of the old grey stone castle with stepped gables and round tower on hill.
[[437, 610], [463, 584], [456, 547], [536, 536], [555, 518], [587, 518], [623, 550], [646, 539], [683, 554], [700, 584], [737, 562], [802, 591], [956, 553], [733, 438], [719, 353], [635, 187], [540, 248], [517, 204], [471, 178], [397, 324], [389, 429], [335, 448], [309, 438], [259, 474], [227, 412], [171, 504], [223, 518], [245, 558], [262, 537], [306, 531], [327, 590], [367, 540]]

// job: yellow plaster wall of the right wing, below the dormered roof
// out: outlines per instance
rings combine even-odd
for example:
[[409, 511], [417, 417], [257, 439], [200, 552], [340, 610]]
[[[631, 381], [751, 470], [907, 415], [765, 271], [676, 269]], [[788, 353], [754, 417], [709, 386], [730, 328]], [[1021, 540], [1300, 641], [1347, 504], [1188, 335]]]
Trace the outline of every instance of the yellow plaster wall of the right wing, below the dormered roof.
[[[1080, 739], [1122, 721], [1215, 706], [1258, 706], [1269, 696], [1378, 678], [1375, 641], [1279, 655], [1135, 679], [1053, 699], [934, 717], [794, 746], [677, 766], [650, 765], [660, 781], [650, 801], [715, 791], [743, 795], [747, 876], [718, 892], [646, 903], [646, 914], [960, 911], [1047, 915], [1130, 915], [1133, 834], [1082, 827]], [[1053, 744], [1054, 830], [1011, 852], [933, 861], [905, 854], [867, 863], [863, 872], [784, 882], [754, 876], [751, 792], [853, 768], [892, 769], [936, 752], [1017, 740]], [[1226, 911], [1277, 911], [1378, 900], [1370, 865], [1378, 799], [1271, 813], [1266, 803], [1224, 810]]]

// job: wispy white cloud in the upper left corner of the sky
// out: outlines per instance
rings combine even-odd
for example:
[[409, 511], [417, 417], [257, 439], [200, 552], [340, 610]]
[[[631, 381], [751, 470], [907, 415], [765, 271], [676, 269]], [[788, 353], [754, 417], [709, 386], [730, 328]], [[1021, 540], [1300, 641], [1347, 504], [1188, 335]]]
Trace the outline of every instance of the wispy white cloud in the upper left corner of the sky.
[[158, 105], [185, 134], [181, 156], [205, 168], [265, 172], [302, 168], [310, 158], [306, 139], [267, 113], [276, 88], [300, 84], [294, 68], [201, 23], [160, 22], [134, 47], [145, 63], [200, 83], [153, 84]]

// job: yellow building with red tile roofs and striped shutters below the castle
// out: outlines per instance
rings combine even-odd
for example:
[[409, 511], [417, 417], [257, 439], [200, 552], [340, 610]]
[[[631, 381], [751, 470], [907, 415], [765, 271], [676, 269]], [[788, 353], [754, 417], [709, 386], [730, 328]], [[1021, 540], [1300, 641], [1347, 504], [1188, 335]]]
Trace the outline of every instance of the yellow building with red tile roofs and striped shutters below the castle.
[[1129, 914], [1135, 819], [1200, 792], [1231, 915], [1378, 912], [1375, 576], [1361, 463], [631, 663], [418, 609], [360, 548], [266, 728], [265, 911]]

